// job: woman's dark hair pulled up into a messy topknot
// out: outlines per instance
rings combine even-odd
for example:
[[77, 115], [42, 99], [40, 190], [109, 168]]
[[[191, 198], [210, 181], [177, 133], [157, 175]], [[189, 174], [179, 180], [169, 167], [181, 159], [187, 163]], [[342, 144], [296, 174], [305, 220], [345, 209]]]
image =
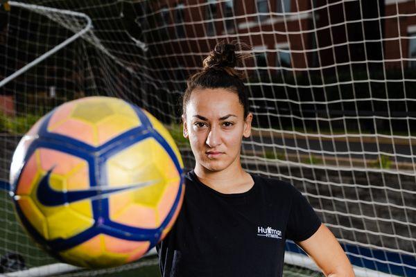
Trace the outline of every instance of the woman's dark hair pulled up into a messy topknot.
[[[239, 43], [248, 46], [244, 43]], [[250, 46], [248, 46], [250, 47]], [[223, 88], [239, 96], [239, 102], [243, 105], [244, 119], [248, 116], [248, 89], [243, 83], [243, 73], [234, 67], [248, 57], [250, 53], [235, 53], [236, 44], [227, 44], [222, 41], [205, 58], [202, 71], [191, 75], [187, 80], [187, 89], [182, 96], [182, 114], [185, 114], [187, 103], [194, 89], [217, 89]]]

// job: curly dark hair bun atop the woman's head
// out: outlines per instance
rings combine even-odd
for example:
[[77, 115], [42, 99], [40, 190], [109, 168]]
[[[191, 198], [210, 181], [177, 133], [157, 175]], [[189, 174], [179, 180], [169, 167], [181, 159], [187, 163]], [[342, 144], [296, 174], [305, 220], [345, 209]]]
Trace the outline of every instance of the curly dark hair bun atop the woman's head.
[[237, 63], [235, 53], [236, 46], [234, 44], [227, 44], [219, 42], [209, 56], [203, 62], [204, 69], [231, 67], [234, 68]]

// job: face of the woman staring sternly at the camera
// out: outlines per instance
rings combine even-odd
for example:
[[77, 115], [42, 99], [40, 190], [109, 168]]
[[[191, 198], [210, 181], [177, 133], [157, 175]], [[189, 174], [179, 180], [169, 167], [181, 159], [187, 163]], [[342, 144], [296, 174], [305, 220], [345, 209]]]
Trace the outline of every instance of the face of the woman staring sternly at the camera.
[[196, 166], [210, 171], [241, 166], [241, 141], [250, 136], [252, 114], [244, 120], [237, 93], [195, 89], [185, 111], [184, 137], [191, 143]]

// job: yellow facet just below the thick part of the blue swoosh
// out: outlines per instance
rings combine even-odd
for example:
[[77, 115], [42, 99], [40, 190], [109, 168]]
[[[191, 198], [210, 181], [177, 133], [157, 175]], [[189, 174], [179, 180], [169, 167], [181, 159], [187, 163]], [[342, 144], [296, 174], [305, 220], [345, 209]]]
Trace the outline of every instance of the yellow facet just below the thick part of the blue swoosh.
[[[72, 210], [71, 206], [78, 206], [78, 209], [81, 211], [85, 210], [87, 213], [89, 210], [89, 216]], [[49, 240], [70, 238], [73, 235], [85, 231], [94, 224], [89, 200], [73, 203], [68, 206], [65, 205], [60, 211], [46, 217], [46, 220], [49, 226]]]

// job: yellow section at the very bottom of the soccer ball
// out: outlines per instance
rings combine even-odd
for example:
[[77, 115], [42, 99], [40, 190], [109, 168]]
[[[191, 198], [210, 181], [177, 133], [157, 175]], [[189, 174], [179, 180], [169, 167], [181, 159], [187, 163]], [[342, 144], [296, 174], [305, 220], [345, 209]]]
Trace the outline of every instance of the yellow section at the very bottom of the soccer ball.
[[115, 267], [123, 265], [128, 255], [105, 251], [104, 235], [96, 235], [83, 244], [62, 251], [60, 256], [74, 265], [81, 267]]

